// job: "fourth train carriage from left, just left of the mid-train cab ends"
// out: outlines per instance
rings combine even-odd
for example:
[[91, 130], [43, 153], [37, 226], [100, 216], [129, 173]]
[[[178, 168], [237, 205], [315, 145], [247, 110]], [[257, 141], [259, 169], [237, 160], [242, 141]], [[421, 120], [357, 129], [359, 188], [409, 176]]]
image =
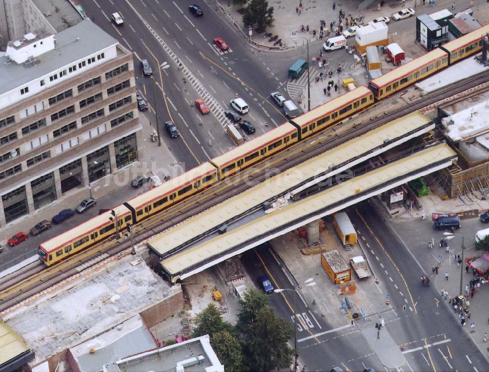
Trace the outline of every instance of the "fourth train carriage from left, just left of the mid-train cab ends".
[[299, 130], [300, 141], [373, 103], [372, 91], [360, 86], [294, 118], [291, 123]]

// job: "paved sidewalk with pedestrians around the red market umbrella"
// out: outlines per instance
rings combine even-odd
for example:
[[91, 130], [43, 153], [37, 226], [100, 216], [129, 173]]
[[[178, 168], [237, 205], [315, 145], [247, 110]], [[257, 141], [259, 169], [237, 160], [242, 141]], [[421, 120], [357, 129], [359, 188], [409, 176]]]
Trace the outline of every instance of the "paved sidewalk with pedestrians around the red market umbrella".
[[[438, 275], [431, 275], [432, 282], [436, 285], [436, 289], [439, 293], [440, 306], [449, 306], [451, 313], [456, 318], [459, 327], [462, 327], [459, 319], [459, 312], [455, 312], [453, 310], [453, 306], [449, 304], [450, 297], [455, 297], [460, 295], [460, 272], [463, 272], [462, 275], [462, 292], [465, 293], [466, 285], [470, 280], [476, 279], [477, 277], [473, 275], [472, 270], [469, 270], [468, 273], [465, 270], [467, 263], [465, 263], [465, 258], [472, 256], [481, 256], [481, 251], [477, 251], [475, 247], [466, 248], [464, 250], [464, 262], [459, 266], [454, 260], [454, 255], [461, 255], [461, 241], [460, 239], [453, 239], [450, 241], [451, 243], [451, 254], [450, 259], [446, 260], [440, 266], [438, 271]], [[455, 248], [456, 247], [456, 248]], [[442, 248], [439, 247], [439, 242], [435, 242], [435, 248], [433, 253], [436, 253], [436, 250], [442, 252]], [[443, 252], [445, 253], [445, 248], [443, 248]], [[448, 281], [445, 280], [445, 273], [448, 273]], [[483, 341], [484, 333], [489, 333], [489, 325], [488, 325], [488, 311], [487, 304], [489, 303], [489, 291], [487, 288], [488, 282], [486, 284], [481, 284], [479, 289], [476, 289], [474, 297], [468, 298], [469, 306], [468, 311], [470, 313], [470, 319], [467, 319], [467, 315], [465, 316], [466, 324], [464, 326], [465, 331], [470, 336], [474, 344], [481, 350], [482, 354], [487, 358], [488, 357], [488, 343]], [[445, 300], [444, 297], [441, 296], [441, 290], [444, 288], [448, 292], [448, 297]], [[470, 292], [469, 292], [470, 293]], [[470, 324], [474, 322], [475, 327], [471, 328]]]

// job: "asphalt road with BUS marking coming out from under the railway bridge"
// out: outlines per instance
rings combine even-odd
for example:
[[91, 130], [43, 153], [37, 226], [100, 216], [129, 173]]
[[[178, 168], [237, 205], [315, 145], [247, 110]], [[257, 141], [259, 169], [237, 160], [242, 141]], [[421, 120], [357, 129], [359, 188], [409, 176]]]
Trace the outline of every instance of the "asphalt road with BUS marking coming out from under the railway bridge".
[[[385, 321], [381, 332], [389, 332], [396, 347], [405, 345], [405, 363], [399, 370], [488, 371], [486, 359], [466, 330], [445, 304], [437, 302], [434, 286], [422, 286], [420, 278], [425, 269], [406, 251], [398, 235], [378, 216], [375, 208], [365, 201], [348, 212], [380, 281], [378, 289], [369, 290], [367, 297], [378, 305]], [[244, 253], [242, 261], [246, 272], [255, 280], [267, 274], [281, 288], [294, 288], [297, 284], [278, 255], [266, 246]], [[344, 322], [335, 324], [332, 319], [322, 317], [316, 311], [317, 306], [311, 306], [313, 301], [329, 301], [328, 294], [323, 299], [309, 297], [306, 288], [299, 290], [299, 294], [296, 309], [301, 365], [306, 365], [308, 371], [329, 371], [333, 366], [340, 366], [344, 371], [363, 371], [366, 367], [386, 370], [361, 333], [365, 327], [374, 327], [375, 315], [371, 316], [371, 322], [358, 322], [358, 327], [345, 326]], [[389, 306], [385, 305], [386, 295], [389, 295]], [[293, 326], [293, 292], [272, 293], [269, 299], [275, 311]]]

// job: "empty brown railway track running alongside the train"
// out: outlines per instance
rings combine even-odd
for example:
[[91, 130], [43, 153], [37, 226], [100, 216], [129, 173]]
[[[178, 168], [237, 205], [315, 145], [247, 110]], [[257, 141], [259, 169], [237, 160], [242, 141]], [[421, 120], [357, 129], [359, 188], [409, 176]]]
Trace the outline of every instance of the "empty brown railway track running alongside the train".
[[[449, 97], [457, 97], [464, 91], [477, 89], [477, 87], [480, 87], [480, 89], [489, 88], [489, 71], [467, 79], [458, 85], [454, 84], [436, 93], [419, 98], [402, 109], [383, 112], [379, 117], [369, 117], [369, 113], [372, 112], [369, 110], [356, 114], [341, 123], [335, 124], [327, 131], [317, 134], [314, 138], [303, 141], [267, 159], [256, 167], [240, 173], [235, 178], [224, 180], [194, 197], [189, 197], [177, 206], [167, 209], [156, 219], [139, 224], [133, 229], [135, 230], [133, 231], [133, 240], [136, 244], [146, 241], [155, 234], [165, 231], [186, 219], [190, 219], [192, 216], [224, 202], [227, 198], [240, 194], [246, 189], [263, 182], [270, 175], [283, 172], [389, 121], [413, 111], [435, 108], [437, 102], [446, 103]], [[396, 95], [395, 97], [398, 96]], [[394, 97], [391, 99], [394, 99]], [[382, 109], [383, 107], [387, 109], [388, 102], [389, 100], [387, 102], [386, 100], [382, 101], [376, 109]], [[34, 294], [52, 288], [67, 278], [80, 274], [80, 266], [88, 268], [91, 266], [91, 261], [95, 264], [103, 260], [94, 259], [95, 256], [105, 255], [103, 257], [107, 258], [128, 254], [131, 250], [131, 241], [122, 239], [117, 240], [116, 244], [114, 244], [114, 241], [102, 242], [67, 261], [46, 269], [42, 268], [43, 265], [41, 265], [41, 269], [37, 265], [35, 268], [20, 270], [19, 273], [14, 273], [16, 275], [10, 278], [6, 277], [6, 281], [0, 282], [0, 316], [9, 312], [13, 307], [21, 306], [26, 299]]]

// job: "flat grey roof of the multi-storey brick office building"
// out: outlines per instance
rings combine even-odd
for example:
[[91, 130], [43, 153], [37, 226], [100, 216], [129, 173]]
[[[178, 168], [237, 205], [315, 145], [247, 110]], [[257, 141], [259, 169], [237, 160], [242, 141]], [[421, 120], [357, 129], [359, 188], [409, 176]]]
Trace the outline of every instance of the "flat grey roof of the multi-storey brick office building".
[[90, 20], [58, 32], [55, 39], [56, 48], [36, 57], [38, 63], [19, 65], [0, 57], [0, 95], [118, 43]]

